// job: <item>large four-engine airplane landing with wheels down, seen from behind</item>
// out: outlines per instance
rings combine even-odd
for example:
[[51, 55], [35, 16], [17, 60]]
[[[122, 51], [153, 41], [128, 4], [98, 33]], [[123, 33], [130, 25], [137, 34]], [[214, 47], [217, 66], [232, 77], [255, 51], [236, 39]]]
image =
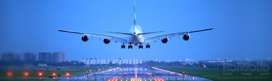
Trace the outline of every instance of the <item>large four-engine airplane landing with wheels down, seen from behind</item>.
[[105, 31], [105, 32], [110, 32], [110, 33], [125, 34], [127, 36], [98, 34], [98, 33], [89, 33], [89, 32], [76, 32], [76, 31], [67, 31], [67, 30], [58, 30], [58, 29], [56, 29], [56, 30], [61, 31], [61, 32], [82, 34], [81, 40], [83, 42], [87, 42], [89, 40], [89, 38], [92, 39], [93, 37], [97, 37], [97, 38], [99, 38], [99, 40], [101, 40], [101, 38], [103, 38], [103, 42], [105, 44], [109, 44], [111, 41], [115, 41], [115, 43], [117, 43], [117, 42], [123, 43], [123, 45], [121, 45], [121, 49], [123, 49], [123, 48], [125, 49], [125, 44], [129, 44], [128, 49], [133, 48], [131, 44], [134, 44], [134, 46], [138, 46], [138, 44], [140, 44], [138, 46], [139, 49], [140, 48], [143, 49], [142, 44], [146, 44], [146, 49], [147, 49], [147, 48], [150, 48], [149, 43], [152, 41], [156, 42], [156, 40], [161, 40], [162, 43], [167, 43], [169, 40], [168, 38], [171, 39], [171, 37], [174, 37], [174, 36], [178, 36], [178, 38], [180, 38], [180, 36], [182, 36], [182, 35], [183, 35], [182, 39], [187, 41], [190, 38], [189, 33], [212, 30], [212, 29], [214, 29], [214, 28], [144, 36], [145, 34], [164, 32], [164, 31], [143, 32], [142, 28], [136, 24], [135, 1], [134, 1], [134, 25], [131, 26], [129, 32], [124, 33], [124, 32]]

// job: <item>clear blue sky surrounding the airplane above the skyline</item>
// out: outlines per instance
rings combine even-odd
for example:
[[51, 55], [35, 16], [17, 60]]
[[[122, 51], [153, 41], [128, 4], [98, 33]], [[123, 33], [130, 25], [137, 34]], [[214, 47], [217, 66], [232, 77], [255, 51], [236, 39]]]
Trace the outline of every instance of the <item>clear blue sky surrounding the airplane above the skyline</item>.
[[136, 21], [143, 32], [215, 28], [191, 33], [189, 41], [153, 42], [150, 49], [121, 49], [121, 43], [106, 45], [98, 38], [82, 42], [81, 34], [55, 30], [128, 32], [133, 6], [133, 0], [0, 0], [0, 53], [64, 51], [72, 60], [271, 58], [271, 0], [137, 0]]

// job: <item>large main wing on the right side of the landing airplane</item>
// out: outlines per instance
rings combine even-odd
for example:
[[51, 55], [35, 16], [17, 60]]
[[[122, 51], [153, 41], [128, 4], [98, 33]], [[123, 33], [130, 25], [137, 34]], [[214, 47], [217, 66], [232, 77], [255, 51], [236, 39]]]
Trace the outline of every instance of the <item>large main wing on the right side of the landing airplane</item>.
[[176, 33], [169, 33], [169, 34], [159, 34], [159, 35], [152, 35], [152, 36], [144, 36], [145, 43], [149, 43], [156, 40], [161, 40], [163, 38], [169, 38], [174, 36], [180, 36], [185, 35], [192, 32], [200, 32], [200, 31], [206, 31], [206, 30], [212, 30], [213, 28], [204, 29], [204, 30], [194, 30], [194, 31], [186, 31], [186, 32], [176, 32]]

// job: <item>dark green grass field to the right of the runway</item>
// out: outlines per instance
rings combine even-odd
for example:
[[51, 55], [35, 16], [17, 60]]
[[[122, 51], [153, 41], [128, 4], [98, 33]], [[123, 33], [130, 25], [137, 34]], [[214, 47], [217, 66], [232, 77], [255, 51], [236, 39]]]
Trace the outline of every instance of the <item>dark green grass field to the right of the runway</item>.
[[[258, 71], [251, 72], [251, 75], [242, 75], [242, 72], [240, 71], [233, 72], [233, 75], [223, 75], [223, 69], [215, 68], [182, 67], [182, 66], [155, 66], [155, 67], [180, 73], [184, 71], [185, 74], [191, 74], [194, 76], [199, 76], [202, 78], [207, 78], [215, 81], [260, 81], [260, 80], [272, 81], [271, 75], [260, 75], [260, 72]], [[266, 77], [267, 79], [264, 79], [263, 77]]]

